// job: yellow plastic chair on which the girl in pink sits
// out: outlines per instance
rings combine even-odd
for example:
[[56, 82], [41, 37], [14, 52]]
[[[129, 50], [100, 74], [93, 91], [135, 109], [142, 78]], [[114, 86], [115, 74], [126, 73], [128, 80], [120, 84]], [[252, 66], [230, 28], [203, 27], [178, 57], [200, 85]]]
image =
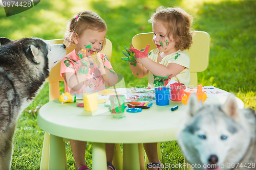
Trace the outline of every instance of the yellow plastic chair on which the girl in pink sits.
[[[50, 44], [62, 44], [64, 39], [54, 39], [54, 40], [47, 40]], [[75, 49], [75, 45], [66, 48], [66, 54], [69, 54]], [[101, 51], [101, 53], [108, 56], [109, 60], [111, 61], [112, 56], [112, 43], [109, 39], [106, 39], [106, 44]], [[59, 98], [59, 82], [64, 81], [63, 77], [60, 76], [60, 62], [51, 69], [50, 76], [46, 80], [49, 82], [49, 99], [53, 101]], [[65, 141], [69, 141], [69, 139], [63, 138], [61, 147], [62, 152], [59, 154], [65, 155], [65, 160], [49, 160], [49, 148], [50, 148], [50, 134], [45, 133], [44, 137], [44, 145], [42, 147], [42, 156], [41, 156], [41, 163], [40, 163], [40, 170], [48, 170], [49, 164], [51, 161], [58, 161], [60, 164], [65, 164], [65, 169], [67, 169], [67, 159], [66, 159], [66, 149], [65, 149]], [[122, 155], [120, 144], [116, 144], [115, 153], [114, 153], [114, 160], [113, 164], [117, 169], [122, 168]]]

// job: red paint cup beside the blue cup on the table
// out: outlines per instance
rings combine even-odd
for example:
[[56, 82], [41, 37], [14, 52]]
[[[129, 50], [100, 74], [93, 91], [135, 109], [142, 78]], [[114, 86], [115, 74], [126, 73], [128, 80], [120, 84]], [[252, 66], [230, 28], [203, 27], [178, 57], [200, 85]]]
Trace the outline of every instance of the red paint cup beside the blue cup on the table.
[[183, 83], [174, 83], [170, 85], [170, 99], [172, 101], [181, 101], [186, 86]]

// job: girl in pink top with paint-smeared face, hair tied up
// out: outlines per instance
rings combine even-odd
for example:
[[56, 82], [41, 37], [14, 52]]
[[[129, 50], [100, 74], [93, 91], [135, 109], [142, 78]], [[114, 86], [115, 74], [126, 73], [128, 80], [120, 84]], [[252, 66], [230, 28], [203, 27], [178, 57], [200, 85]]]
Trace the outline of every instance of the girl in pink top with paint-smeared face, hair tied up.
[[[114, 86], [118, 77], [104, 54], [98, 53], [105, 45], [107, 27], [96, 13], [84, 11], [70, 19], [65, 34], [66, 46], [75, 45], [75, 50], [61, 61], [60, 76], [65, 80], [65, 92], [81, 93], [104, 90], [105, 84]], [[84, 123], [86, 126], [86, 123]], [[70, 145], [78, 170], [89, 169], [86, 165], [86, 141], [70, 139]], [[115, 144], [106, 143], [108, 169], [112, 165]]]

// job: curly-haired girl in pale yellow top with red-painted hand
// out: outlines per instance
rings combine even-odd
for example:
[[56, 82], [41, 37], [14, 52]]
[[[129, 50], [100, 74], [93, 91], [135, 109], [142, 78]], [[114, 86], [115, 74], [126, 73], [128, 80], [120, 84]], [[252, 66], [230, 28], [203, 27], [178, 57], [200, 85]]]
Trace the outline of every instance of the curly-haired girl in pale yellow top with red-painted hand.
[[[137, 78], [148, 75], [148, 86], [151, 87], [166, 85], [170, 79], [189, 87], [190, 59], [184, 50], [192, 43], [193, 32], [190, 26], [193, 18], [180, 8], [159, 8], [149, 21], [152, 23], [153, 42], [157, 48], [148, 55], [149, 45], [141, 51], [132, 45], [129, 50], [126, 48], [127, 53], [124, 54], [130, 57], [133, 75]], [[148, 169], [158, 169], [161, 162], [157, 157], [157, 143], [144, 143], [144, 149], [150, 162]]]

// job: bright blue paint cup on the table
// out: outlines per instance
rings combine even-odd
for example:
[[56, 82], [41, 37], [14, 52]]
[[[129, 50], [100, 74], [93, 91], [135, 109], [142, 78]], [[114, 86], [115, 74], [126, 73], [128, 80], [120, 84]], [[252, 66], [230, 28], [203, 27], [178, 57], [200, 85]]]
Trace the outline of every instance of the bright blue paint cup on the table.
[[158, 106], [169, 105], [170, 89], [167, 87], [156, 87], [155, 88], [156, 104]]

